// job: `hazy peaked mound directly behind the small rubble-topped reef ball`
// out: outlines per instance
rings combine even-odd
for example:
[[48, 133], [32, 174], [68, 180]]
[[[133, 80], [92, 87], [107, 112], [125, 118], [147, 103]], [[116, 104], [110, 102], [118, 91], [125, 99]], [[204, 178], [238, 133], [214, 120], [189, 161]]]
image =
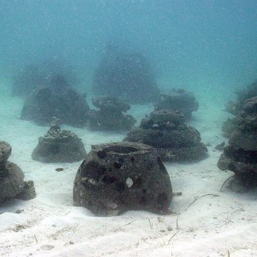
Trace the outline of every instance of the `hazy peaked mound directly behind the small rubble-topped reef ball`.
[[53, 74], [49, 84], [34, 91], [24, 102], [21, 119], [45, 126], [53, 117], [62, 124], [82, 127], [88, 119], [86, 96], [79, 95], [62, 74]]

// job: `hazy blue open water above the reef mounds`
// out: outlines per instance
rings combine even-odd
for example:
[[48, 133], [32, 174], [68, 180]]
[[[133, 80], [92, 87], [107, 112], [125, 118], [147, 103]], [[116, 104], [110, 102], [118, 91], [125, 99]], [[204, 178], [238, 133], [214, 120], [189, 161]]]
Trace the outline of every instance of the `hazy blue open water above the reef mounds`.
[[223, 94], [257, 78], [257, 1], [0, 0], [1, 76], [56, 56], [90, 84], [107, 41], [143, 52], [159, 86]]

